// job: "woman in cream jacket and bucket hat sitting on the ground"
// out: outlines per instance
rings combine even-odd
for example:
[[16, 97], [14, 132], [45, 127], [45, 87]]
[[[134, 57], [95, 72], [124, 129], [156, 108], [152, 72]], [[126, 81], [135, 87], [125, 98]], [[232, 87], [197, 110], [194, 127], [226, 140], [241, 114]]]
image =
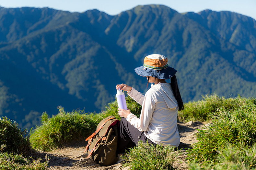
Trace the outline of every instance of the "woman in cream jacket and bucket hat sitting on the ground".
[[[127, 91], [128, 95], [142, 105], [140, 118], [129, 109], [118, 109], [122, 118], [117, 154], [138, 145], [138, 141], [155, 146], [179, 146], [177, 114], [184, 106], [175, 76], [177, 70], [167, 63], [165, 56], [152, 54], [145, 57], [143, 66], [135, 68], [138, 75], [147, 77], [148, 83], [154, 83], [145, 95], [129, 85], [116, 85], [116, 89]], [[167, 83], [166, 79], [171, 79], [171, 83]]]

